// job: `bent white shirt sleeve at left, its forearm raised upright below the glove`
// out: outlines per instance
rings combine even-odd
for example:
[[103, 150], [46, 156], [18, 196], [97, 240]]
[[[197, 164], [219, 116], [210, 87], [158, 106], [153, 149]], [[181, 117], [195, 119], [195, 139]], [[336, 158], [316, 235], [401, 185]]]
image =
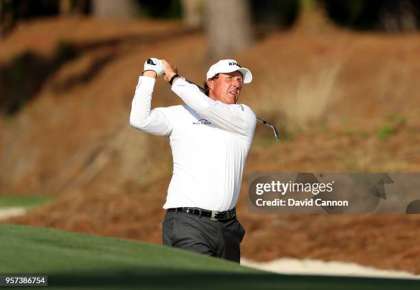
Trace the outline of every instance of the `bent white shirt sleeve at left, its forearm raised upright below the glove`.
[[172, 127], [164, 108], [150, 109], [155, 82], [156, 79], [152, 77], [139, 77], [131, 104], [130, 125], [153, 135], [169, 136]]

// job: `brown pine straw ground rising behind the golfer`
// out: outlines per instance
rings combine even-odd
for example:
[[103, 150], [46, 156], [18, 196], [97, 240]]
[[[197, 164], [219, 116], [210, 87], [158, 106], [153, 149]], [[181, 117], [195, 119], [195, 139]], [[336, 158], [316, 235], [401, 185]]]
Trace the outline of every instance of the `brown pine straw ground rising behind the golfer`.
[[[419, 39], [338, 29], [279, 33], [229, 56], [255, 77], [241, 101], [287, 136], [276, 143], [258, 126], [244, 177], [419, 171]], [[55, 53], [60, 41], [75, 51], [64, 62]], [[47, 75], [36, 79], [41, 85], [19, 112], [1, 120], [1, 193], [57, 197], [6, 222], [161, 243], [170, 147], [165, 138], [130, 128], [130, 101], [150, 56], [201, 82], [211, 64], [205, 36], [176, 22], [45, 19], [21, 24], [0, 47], [1, 68], [30, 51], [44, 64], [36, 73]], [[4, 83], [0, 89], [11, 92]], [[172, 104], [180, 101], [159, 80], [153, 106]], [[246, 228], [242, 256], [348, 261], [420, 274], [420, 217], [251, 215], [247, 186], [244, 178], [237, 204]]]

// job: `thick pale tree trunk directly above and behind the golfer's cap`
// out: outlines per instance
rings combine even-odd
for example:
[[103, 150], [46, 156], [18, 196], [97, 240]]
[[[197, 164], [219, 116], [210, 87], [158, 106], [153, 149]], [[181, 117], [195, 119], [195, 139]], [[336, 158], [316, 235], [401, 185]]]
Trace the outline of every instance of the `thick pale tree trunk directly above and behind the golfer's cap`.
[[253, 43], [248, 1], [206, 0], [205, 14], [212, 58], [226, 57]]

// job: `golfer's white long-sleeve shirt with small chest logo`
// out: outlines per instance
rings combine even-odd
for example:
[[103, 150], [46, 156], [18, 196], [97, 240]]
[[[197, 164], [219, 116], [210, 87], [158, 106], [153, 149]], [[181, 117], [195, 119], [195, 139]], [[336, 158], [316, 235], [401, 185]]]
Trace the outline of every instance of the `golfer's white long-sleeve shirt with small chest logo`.
[[172, 90], [185, 105], [150, 110], [155, 82], [139, 77], [130, 125], [170, 139], [174, 171], [163, 208], [234, 208], [257, 121], [253, 110], [213, 101], [181, 78]]

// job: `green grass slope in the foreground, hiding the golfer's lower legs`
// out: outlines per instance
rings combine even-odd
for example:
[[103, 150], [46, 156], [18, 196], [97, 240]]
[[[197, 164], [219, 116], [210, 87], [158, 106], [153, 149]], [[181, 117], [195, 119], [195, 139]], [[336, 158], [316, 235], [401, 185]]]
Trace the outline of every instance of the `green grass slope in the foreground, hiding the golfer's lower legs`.
[[270, 274], [160, 245], [8, 224], [0, 224], [0, 261], [0, 274], [48, 275], [48, 289], [371, 290], [420, 286], [415, 280]]

